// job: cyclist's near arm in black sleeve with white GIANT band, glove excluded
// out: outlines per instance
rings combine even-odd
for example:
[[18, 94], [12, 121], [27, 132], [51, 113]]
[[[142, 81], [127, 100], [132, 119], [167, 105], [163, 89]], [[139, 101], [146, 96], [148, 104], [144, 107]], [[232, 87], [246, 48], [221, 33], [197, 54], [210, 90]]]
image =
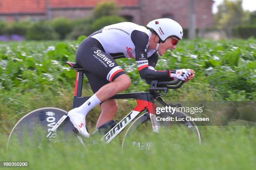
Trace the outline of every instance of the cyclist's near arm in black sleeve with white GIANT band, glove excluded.
[[135, 45], [136, 63], [142, 79], [153, 79], [161, 81], [171, 81], [169, 70], [151, 70], [148, 68], [148, 57], [146, 46], [148, 35], [145, 32], [134, 30], [131, 33], [131, 40]]

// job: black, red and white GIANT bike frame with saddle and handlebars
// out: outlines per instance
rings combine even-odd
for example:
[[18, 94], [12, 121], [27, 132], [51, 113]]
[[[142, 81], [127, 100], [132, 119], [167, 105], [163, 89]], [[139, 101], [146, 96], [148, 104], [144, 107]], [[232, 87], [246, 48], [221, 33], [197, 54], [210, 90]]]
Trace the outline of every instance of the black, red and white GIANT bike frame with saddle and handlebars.
[[[84, 79], [84, 72], [86, 71], [81, 66], [77, 65], [74, 62], [67, 62], [75, 71], [77, 71], [77, 77], [75, 82], [75, 91], [74, 91], [74, 100], [73, 100], [73, 108], [81, 106], [86, 100], [88, 100], [91, 96], [82, 97], [82, 83]], [[146, 114], [148, 115], [148, 119], [150, 118], [153, 131], [159, 133], [159, 124], [156, 121], [156, 105], [154, 99], [159, 101], [163, 106], [168, 105], [161, 96], [166, 95], [168, 89], [176, 89], [182, 86], [184, 82], [179, 83], [180, 80], [174, 82], [158, 82], [156, 80], [151, 81], [151, 88], [149, 92], [135, 92], [135, 93], [125, 93], [125, 94], [117, 94], [110, 99], [136, 99], [137, 106], [127, 115], [125, 116], [117, 125], [115, 125], [108, 133], [106, 133], [101, 140], [105, 143], [110, 143], [133, 119], [135, 119], [141, 112], [146, 110]], [[179, 83], [179, 85], [177, 85]], [[160, 85], [160, 87], [158, 87]], [[164, 85], [164, 87], [163, 87]], [[176, 85], [176, 86], [168, 86], [168, 85]], [[164, 92], [164, 95], [161, 95], [161, 92]], [[177, 105], [174, 105], [176, 107]], [[61, 119], [51, 128], [50, 132], [46, 135], [47, 138], [51, 136], [52, 133], [61, 125], [64, 120], [66, 120], [68, 116], [63, 115]], [[82, 142], [82, 138], [79, 137], [79, 140]]]

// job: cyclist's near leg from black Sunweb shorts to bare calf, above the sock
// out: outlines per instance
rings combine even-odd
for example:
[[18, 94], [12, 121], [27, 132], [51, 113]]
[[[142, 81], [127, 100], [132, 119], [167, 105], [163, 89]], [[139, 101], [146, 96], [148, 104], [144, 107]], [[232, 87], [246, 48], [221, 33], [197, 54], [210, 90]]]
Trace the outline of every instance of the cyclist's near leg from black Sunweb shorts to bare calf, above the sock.
[[[98, 82], [91, 85], [92, 90], [96, 92], [95, 95], [100, 101], [107, 100], [118, 92], [126, 90], [131, 85], [128, 75], [110, 55], [105, 53], [100, 42], [94, 38], [89, 38], [87, 41], [84, 40], [79, 46], [76, 60], [79, 65], [87, 70], [87, 74], [99, 77], [102, 79], [101, 81], [105, 82], [105, 85], [98, 89], [97, 92], [93, 88]], [[90, 82], [89, 77], [88, 79]]]

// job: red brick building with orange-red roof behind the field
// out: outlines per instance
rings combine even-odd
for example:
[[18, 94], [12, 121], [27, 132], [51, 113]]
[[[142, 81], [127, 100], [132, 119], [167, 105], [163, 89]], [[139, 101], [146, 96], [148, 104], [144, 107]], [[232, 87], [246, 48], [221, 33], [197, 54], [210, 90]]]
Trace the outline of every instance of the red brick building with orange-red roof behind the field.
[[[104, 0], [0, 0], [0, 20], [83, 18], [102, 1]], [[148, 21], [157, 18], [172, 18], [183, 28], [189, 25], [189, 0], [112, 1], [122, 7], [121, 16], [140, 25], [146, 25]], [[194, 0], [197, 28], [212, 27], [213, 2], [213, 0]]]

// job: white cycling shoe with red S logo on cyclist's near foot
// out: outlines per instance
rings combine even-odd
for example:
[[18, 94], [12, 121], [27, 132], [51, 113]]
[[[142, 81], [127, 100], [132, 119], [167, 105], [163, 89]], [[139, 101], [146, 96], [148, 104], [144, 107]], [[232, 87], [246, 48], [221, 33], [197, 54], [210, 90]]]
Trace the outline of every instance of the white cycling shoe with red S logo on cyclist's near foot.
[[74, 128], [85, 138], [89, 138], [90, 135], [87, 132], [87, 128], [85, 125], [85, 116], [82, 113], [77, 112], [77, 109], [74, 108], [70, 110], [67, 114], [69, 116], [69, 120], [74, 125]]

